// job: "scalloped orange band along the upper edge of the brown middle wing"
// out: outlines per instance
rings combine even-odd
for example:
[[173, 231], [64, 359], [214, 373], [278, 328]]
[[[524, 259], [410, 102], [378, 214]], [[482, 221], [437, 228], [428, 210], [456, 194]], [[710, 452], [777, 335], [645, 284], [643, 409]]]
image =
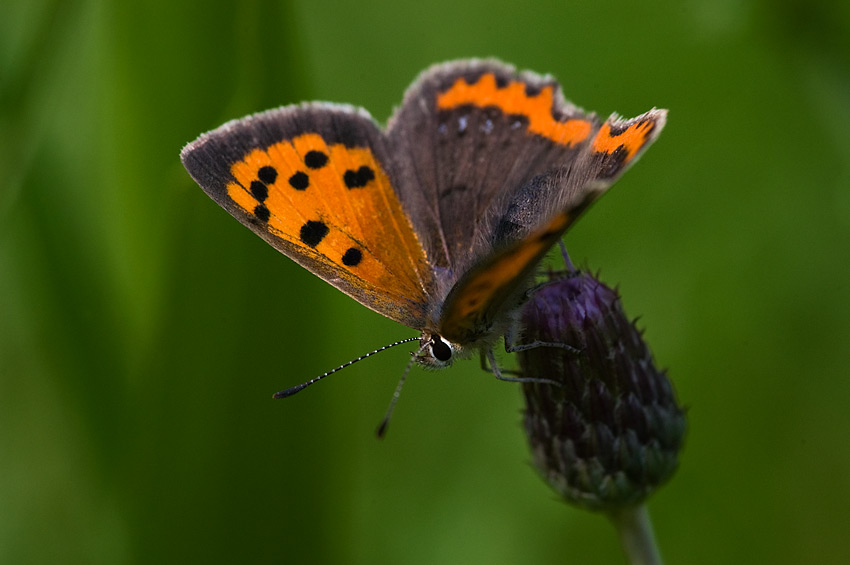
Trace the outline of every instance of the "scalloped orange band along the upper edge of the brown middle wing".
[[559, 122], [552, 116], [554, 86], [543, 87], [529, 95], [526, 84], [510, 81], [499, 86], [494, 73], [485, 73], [475, 84], [460, 78], [451, 88], [437, 97], [437, 107], [450, 110], [459, 106], [495, 106], [505, 114], [519, 114], [528, 118], [528, 131], [551, 139], [560, 145], [577, 145], [587, 139], [592, 124], [587, 120]]

